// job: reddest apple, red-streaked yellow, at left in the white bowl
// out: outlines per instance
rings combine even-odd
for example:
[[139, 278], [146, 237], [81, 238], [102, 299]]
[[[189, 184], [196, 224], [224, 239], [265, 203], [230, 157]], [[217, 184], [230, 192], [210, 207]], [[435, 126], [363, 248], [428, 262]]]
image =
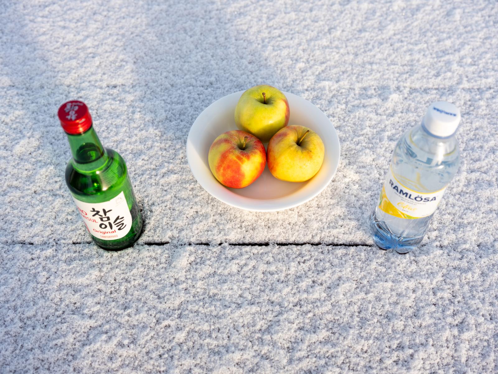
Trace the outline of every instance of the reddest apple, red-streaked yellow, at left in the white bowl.
[[263, 143], [241, 130], [227, 131], [215, 139], [208, 154], [209, 168], [224, 186], [243, 188], [254, 182], [266, 165]]

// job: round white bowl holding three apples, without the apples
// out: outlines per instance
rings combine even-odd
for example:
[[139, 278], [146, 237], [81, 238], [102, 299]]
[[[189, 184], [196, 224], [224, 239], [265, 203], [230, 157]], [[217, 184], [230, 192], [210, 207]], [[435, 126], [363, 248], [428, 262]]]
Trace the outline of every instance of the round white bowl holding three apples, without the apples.
[[[318, 195], [332, 180], [339, 165], [339, 137], [327, 116], [309, 101], [284, 92], [290, 107], [289, 125], [302, 125], [315, 131], [325, 145], [325, 157], [318, 173], [309, 181], [283, 182], [274, 178], [268, 167], [245, 188], [228, 188], [219, 183], [208, 164], [209, 147], [220, 135], [237, 130], [235, 107], [244, 91], [215, 101], [197, 117], [187, 138], [187, 160], [192, 174], [206, 191], [217, 199], [246, 210], [275, 211], [292, 208]], [[266, 146], [266, 144], [265, 144]]]

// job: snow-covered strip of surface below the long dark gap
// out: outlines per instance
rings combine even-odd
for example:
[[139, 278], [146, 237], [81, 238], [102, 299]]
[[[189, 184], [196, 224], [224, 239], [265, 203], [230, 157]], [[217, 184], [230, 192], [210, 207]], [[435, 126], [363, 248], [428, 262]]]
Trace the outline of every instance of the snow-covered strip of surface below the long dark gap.
[[493, 373], [496, 250], [13, 245], [1, 372]]

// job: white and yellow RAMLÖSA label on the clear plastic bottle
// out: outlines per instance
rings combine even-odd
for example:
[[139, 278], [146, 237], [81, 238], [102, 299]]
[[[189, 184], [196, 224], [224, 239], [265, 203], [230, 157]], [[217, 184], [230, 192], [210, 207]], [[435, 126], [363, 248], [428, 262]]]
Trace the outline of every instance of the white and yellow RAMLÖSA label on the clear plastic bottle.
[[[414, 181], [406, 181], [416, 185]], [[399, 218], [422, 218], [434, 213], [446, 187], [435, 192], [418, 192], [401, 184], [394, 177], [391, 168], [385, 177], [378, 207], [384, 212]]]

